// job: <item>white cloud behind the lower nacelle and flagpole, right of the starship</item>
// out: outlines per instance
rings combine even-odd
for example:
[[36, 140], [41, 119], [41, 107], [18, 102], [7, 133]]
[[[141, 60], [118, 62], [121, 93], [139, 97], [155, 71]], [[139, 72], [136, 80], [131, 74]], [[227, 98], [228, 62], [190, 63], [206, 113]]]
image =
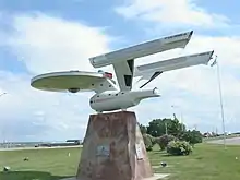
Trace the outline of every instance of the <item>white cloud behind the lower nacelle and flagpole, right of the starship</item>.
[[[200, 36], [194, 35], [185, 49], [176, 49], [161, 55], [154, 55], [136, 60], [136, 64], [159, 61], [188, 53], [215, 50], [218, 56], [225, 118], [228, 130], [238, 131], [236, 120], [240, 116], [238, 103], [240, 100], [240, 61], [239, 37], [229, 36]], [[149, 87], [159, 87], [161, 97], [155, 103], [143, 103], [136, 107], [143, 122], [158, 117], [169, 117], [172, 112], [170, 106], [178, 105], [183, 111], [184, 122], [189, 127], [197, 124], [201, 130], [221, 130], [219, 107], [219, 92], [216, 67], [197, 65], [188, 69], [166, 72], [149, 84]], [[144, 115], [144, 111], [151, 113]], [[180, 112], [178, 112], [180, 117]]]

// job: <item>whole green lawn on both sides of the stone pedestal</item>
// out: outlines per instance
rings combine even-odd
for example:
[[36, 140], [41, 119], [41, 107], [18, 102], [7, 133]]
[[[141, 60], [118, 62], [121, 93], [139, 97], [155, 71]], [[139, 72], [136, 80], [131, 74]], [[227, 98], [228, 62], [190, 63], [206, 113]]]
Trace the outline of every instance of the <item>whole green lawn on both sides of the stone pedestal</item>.
[[[69, 157], [68, 154], [71, 153]], [[29, 161], [23, 161], [29, 157]], [[155, 172], [170, 173], [169, 180], [240, 179], [240, 146], [201, 144], [185, 157], [171, 157], [154, 151], [148, 155]], [[236, 159], [238, 157], [238, 159]], [[57, 180], [74, 176], [79, 148], [0, 152], [0, 167], [10, 166], [11, 173], [0, 171], [0, 180]], [[168, 167], [157, 167], [167, 161]]]

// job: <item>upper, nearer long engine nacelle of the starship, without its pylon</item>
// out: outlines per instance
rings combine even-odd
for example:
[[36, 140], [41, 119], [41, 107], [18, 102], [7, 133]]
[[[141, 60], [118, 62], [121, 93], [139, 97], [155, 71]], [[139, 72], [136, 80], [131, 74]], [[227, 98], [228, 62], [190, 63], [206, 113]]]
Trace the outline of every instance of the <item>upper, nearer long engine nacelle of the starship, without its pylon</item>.
[[175, 48], [183, 48], [189, 43], [193, 31], [163, 37], [136, 46], [132, 46], [129, 48], [96, 56], [89, 58], [89, 61], [94, 68], [100, 68], [100, 67], [106, 67], [113, 63], [127, 61], [130, 59], [136, 59], [141, 57], [158, 53]]

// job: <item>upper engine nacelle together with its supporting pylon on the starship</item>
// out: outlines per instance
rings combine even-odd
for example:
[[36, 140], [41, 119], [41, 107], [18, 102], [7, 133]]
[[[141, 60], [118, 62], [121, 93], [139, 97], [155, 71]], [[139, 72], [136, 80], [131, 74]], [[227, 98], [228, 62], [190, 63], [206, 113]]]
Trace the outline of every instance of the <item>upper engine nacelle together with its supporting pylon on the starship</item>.
[[193, 31], [176, 34], [113, 52], [89, 58], [94, 68], [113, 65], [120, 91], [131, 91], [134, 75], [134, 60], [141, 57], [163, 52], [176, 48], [184, 48], [191, 39]]

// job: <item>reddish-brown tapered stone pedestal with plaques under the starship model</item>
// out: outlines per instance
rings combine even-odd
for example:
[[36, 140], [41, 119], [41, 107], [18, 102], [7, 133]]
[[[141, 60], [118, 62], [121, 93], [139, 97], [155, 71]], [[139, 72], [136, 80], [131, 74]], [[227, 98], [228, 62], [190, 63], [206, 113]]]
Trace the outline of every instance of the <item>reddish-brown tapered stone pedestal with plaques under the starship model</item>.
[[77, 180], [143, 180], [153, 176], [134, 112], [91, 115]]

